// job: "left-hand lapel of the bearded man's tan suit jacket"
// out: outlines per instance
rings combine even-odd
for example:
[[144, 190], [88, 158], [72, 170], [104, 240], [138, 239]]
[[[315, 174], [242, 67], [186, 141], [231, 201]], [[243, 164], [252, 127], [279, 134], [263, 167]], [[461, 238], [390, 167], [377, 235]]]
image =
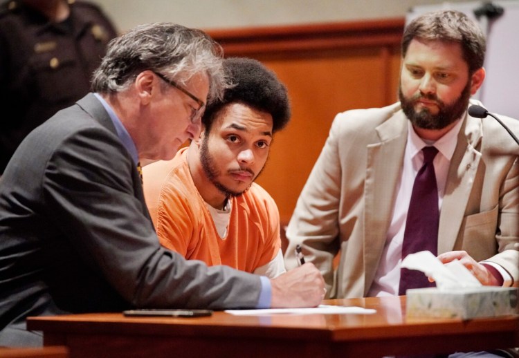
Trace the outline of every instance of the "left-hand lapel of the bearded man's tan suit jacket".
[[380, 142], [367, 146], [364, 211], [365, 291], [369, 289], [391, 223], [408, 124], [401, 111], [376, 128]]

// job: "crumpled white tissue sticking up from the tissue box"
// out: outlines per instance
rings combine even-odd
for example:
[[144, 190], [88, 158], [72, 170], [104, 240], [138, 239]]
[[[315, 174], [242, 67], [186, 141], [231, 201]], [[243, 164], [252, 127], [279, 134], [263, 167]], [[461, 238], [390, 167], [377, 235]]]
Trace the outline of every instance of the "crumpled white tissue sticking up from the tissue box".
[[439, 290], [475, 288], [482, 284], [457, 260], [443, 264], [429, 251], [409, 254], [402, 260], [401, 267], [419, 270], [436, 281]]

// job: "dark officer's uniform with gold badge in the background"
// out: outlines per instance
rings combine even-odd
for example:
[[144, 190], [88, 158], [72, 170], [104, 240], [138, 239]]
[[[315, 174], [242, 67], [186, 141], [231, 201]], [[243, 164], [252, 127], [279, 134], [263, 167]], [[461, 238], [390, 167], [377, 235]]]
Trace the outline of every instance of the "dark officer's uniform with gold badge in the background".
[[25, 136], [90, 91], [116, 30], [91, 3], [69, 0], [53, 23], [23, 1], [0, 5], [0, 175]]

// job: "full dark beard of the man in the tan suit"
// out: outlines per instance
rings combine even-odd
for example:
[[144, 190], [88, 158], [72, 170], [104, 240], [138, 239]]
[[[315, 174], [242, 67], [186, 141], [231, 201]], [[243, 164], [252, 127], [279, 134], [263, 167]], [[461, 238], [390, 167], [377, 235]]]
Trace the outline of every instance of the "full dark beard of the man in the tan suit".
[[[409, 118], [414, 126], [421, 129], [444, 129], [449, 124], [455, 122], [462, 117], [468, 106], [468, 100], [471, 97], [471, 82], [468, 81], [462, 93], [453, 104], [446, 105], [445, 102], [439, 100], [437, 95], [417, 94], [411, 98], [404, 97], [402, 88], [399, 86], [399, 99], [403, 113]], [[421, 111], [415, 110], [417, 100], [424, 98], [426, 100], [434, 100], [437, 102], [439, 111], [433, 115], [428, 109]]]

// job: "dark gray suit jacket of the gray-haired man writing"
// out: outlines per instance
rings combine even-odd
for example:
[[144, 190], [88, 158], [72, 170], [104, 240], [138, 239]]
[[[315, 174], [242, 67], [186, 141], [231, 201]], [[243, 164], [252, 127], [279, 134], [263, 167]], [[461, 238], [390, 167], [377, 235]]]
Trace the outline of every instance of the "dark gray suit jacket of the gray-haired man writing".
[[0, 179], [0, 346], [38, 345], [25, 318], [251, 308], [260, 277], [161, 247], [136, 165], [92, 94], [22, 142]]

